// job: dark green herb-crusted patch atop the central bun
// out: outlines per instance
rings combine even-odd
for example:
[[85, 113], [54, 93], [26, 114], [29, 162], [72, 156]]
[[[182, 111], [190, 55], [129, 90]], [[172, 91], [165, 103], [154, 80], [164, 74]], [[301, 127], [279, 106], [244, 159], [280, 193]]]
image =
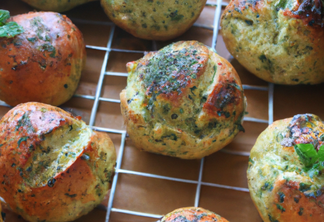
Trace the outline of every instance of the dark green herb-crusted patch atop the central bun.
[[144, 57], [135, 72], [146, 89], [148, 108], [161, 95], [171, 100], [182, 96], [204, 73], [208, 61], [208, 48], [197, 41], [182, 41], [168, 45], [153, 56]]

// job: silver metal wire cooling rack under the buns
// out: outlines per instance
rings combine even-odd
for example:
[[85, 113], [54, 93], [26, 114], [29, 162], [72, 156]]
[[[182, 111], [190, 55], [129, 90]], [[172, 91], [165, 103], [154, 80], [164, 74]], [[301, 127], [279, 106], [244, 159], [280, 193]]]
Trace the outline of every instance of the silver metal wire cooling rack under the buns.
[[[217, 36], [218, 36], [218, 31], [219, 31], [219, 23], [220, 23], [220, 18], [221, 18], [221, 10], [222, 10], [222, 7], [226, 7], [227, 5], [228, 4], [223, 3], [222, 0], [217, 0], [216, 4], [214, 2], [207, 1], [206, 6], [215, 7], [215, 16], [214, 16], [214, 24], [213, 24], [213, 26], [202, 25], [202, 24], [197, 24], [197, 23], [194, 24], [194, 26], [196, 26], [196, 27], [201, 27], [201, 28], [206, 28], [206, 29], [213, 30], [213, 39], [212, 39], [211, 48], [215, 49], [215, 50], [216, 50]], [[161, 218], [161, 217], [163, 217], [163, 215], [158, 215], [158, 214], [150, 214], [150, 213], [131, 211], [131, 210], [119, 209], [119, 208], [112, 207], [119, 174], [132, 174], [132, 175], [138, 175], [138, 176], [143, 176], [143, 177], [150, 177], [150, 178], [177, 181], [177, 182], [182, 182], [182, 183], [196, 184], [197, 187], [196, 187], [195, 200], [194, 200], [194, 206], [195, 207], [197, 207], [199, 205], [201, 185], [211, 186], [211, 187], [218, 187], [218, 188], [225, 188], [225, 189], [231, 189], [231, 190], [237, 190], [237, 191], [241, 191], [241, 192], [249, 192], [249, 189], [247, 189], [247, 188], [233, 187], [233, 186], [226, 186], [226, 185], [221, 185], [221, 184], [216, 184], [216, 183], [203, 182], [202, 178], [203, 178], [203, 170], [204, 170], [205, 158], [202, 158], [200, 160], [199, 176], [198, 176], [198, 179], [196, 181], [195, 180], [185, 180], [185, 179], [180, 179], [180, 178], [166, 177], [166, 176], [160, 176], [160, 175], [156, 175], [156, 174], [148, 174], [148, 173], [142, 173], [142, 172], [136, 172], [136, 171], [129, 171], [129, 170], [121, 169], [120, 167], [121, 167], [121, 161], [123, 159], [125, 139], [126, 139], [127, 132], [124, 131], [124, 130], [116, 130], [116, 129], [95, 127], [94, 125], [95, 125], [95, 121], [96, 121], [96, 114], [97, 114], [98, 105], [99, 105], [100, 101], [120, 103], [120, 100], [118, 100], [118, 99], [104, 98], [104, 97], [100, 96], [101, 92], [102, 92], [102, 86], [103, 86], [104, 77], [105, 76], [124, 76], [124, 77], [128, 76], [127, 73], [107, 72], [106, 71], [106, 67], [107, 67], [107, 63], [108, 63], [108, 59], [109, 59], [109, 53], [111, 51], [118, 51], [118, 52], [125, 52], [125, 53], [145, 53], [145, 51], [112, 48], [111, 44], [112, 44], [112, 40], [113, 40], [114, 32], [115, 32], [115, 25], [112, 22], [89, 21], [89, 20], [82, 20], [82, 19], [71, 19], [71, 20], [73, 22], [82, 23], [82, 24], [110, 26], [110, 34], [109, 34], [107, 47], [100, 47], [100, 46], [93, 46], [93, 45], [87, 45], [86, 46], [87, 48], [106, 51], [105, 56], [104, 56], [104, 60], [103, 60], [103, 64], [102, 64], [102, 67], [101, 67], [101, 72], [100, 72], [99, 81], [98, 81], [95, 96], [80, 95], [80, 94], [75, 94], [74, 95], [74, 97], [81, 97], [81, 98], [85, 98], [85, 99], [94, 100], [94, 104], [93, 104], [92, 111], [91, 111], [91, 116], [90, 116], [90, 122], [89, 122], [90, 127], [92, 127], [94, 130], [97, 130], [97, 131], [102, 131], [102, 132], [114, 133], [114, 134], [121, 135], [121, 143], [120, 143], [120, 148], [119, 148], [119, 152], [118, 152], [118, 156], [117, 156], [117, 164], [116, 164], [116, 168], [115, 168], [115, 176], [114, 176], [113, 181], [112, 181], [111, 192], [110, 192], [110, 196], [109, 196], [109, 200], [108, 200], [108, 206], [107, 206], [107, 213], [106, 213], [105, 222], [109, 221], [110, 213], [112, 211], [113, 212], [120, 212], [120, 213], [127, 213], [127, 214], [132, 214], [132, 215], [138, 215], [138, 216], [151, 217], [151, 218]], [[152, 41], [152, 45], [153, 45], [153, 49], [157, 50], [155, 41]], [[268, 86], [243, 85], [243, 89], [245, 89], [245, 90], [268, 91], [268, 120], [245, 117], [244, 121], [251, 121], [251, 122], [256, 122], [256, 123], [268, 123], [268, 124], [271, 124], [273, 122], [273, 88], [274, 88], [274, 85], [272, 83], [269, 83]], [[2, 101], [0, 101], [0, 105], [9, 106], [9, 105], [7, 105], [6, 103], [4, 103]], [[233, 155], [242, 155], [242, 156], [249, 156], [250, 155], [249, 152], [244, 152], [244, 151], [232, 151], [232, 150], [224, 150], [224, 149], [221, 150], [221, 151], [229, 153], [229, 154], [233, 154]]]

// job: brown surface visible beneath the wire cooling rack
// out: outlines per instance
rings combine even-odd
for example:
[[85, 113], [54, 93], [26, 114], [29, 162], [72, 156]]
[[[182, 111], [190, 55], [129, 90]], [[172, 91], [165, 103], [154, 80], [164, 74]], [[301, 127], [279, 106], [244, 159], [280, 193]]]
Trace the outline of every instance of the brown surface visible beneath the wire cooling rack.
[[[34, 9], [19, 0], [0, 0], [0, 9], [9, 10], [11, 15], [17, 15], [33, 11]], [[212, 25], [215, 7], [205, 7], [197, 23]], [[79, 22], [93, 20], [109, 22], [107, 16], [100, 7], [99, 2], [92, 2], [79, 6], [68, 12], [67, 15], [75, 25], [83, 32], [86, 44], [106, 46], [110, 27], [105, 24], [91, 25]], [[165, 41], [156, 42], [138, 39], [131, 34], [116, 27], [112, 48], [132, 50], [154, 50], [178, 40], [198, 40], [207, 45], [212, 43], [212, 30], [191, 27], [182, 36]], [[217, 52], [231, 61], [238, 72], [243, 84], [267, 86], [267, 83], [247, 72], [236, 60], [231, 60], [222, 37], [218, 36]], [[105, 51], [87, 48], [87, 64], [76, 94], [91, 95], [96, 93], [100, 70]], [[126, 73], [126, 63], [143, 57], [143, 53], [126, 53], [111, 51], [107, 64], [107, 71]], [[105, 98], [119, 99], [119, 92], [126, 87], [126, 77], [105, 76], [101, 96]], [[281, 86], [274, 87], [274, 120], [292, 117], [296, 114], [313, 113], [321, 118], [323, 115], [322, 95], [323, 84], [315, 86]], [[268, 92], [246, 90], [248, 99], [247, 117], [268, 120]], [[89, 123], [93, 100], [73, 97], [61, 107], [70, 111]], [[0, 106], [0, 118], [4, 116], [10, 107]], [[125, 129], [123, 118], [120, 114], [119, 103], [100, 101], [96, 115], [95, 126]], [[224, 149], [235, 151], [250, 151], [258, 135], [267, 127], [264, 123], [245, 122], [246, 132], [240, 132], [234, 141]], [[109, 134], [116, 151], [120, 146], [121, 136]], [[121, 169], [132, 170], [168, 177], [197, 180], [199, 174], [199, 160], [182, 160], [178, 158], [161, 156], [139, 151], [134, 148], [132, 141], [127, 138]], [[248, 157], [216, 152], [205, 160], [203, 181], [228, 186], [247, 188], [246, 170]], [[135, 175], [119, 174], [113, 207], [140, 211], [153, 214], [166, 214], [176, 208], [193, 206], [196, 185], [168, 180], [147, 178]], [[106, 197], [108, 198], [108, 197]], [[107, 199], [90, 212], [75, 221], [104, 222]], [[199, 206], [212, 210], [231, 222], [249, 221], [261, 222], [250, 194], [235, 190], [201, 186]], [[24, 221], [19, 215], [5, 209], [6, 222]], [[149, 217], [134, 216], [124, 213], [111, 212], [111, 222], [121, 221], [156, 221]]]

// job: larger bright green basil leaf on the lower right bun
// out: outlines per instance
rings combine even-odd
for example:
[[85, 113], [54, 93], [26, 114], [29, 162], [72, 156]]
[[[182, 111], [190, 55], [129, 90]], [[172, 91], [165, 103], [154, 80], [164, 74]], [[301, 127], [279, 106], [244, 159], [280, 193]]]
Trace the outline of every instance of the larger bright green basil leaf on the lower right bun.
[[296, 144], [295, 151], [306, 167], [311, 167], [318, 160], [313, 144]]

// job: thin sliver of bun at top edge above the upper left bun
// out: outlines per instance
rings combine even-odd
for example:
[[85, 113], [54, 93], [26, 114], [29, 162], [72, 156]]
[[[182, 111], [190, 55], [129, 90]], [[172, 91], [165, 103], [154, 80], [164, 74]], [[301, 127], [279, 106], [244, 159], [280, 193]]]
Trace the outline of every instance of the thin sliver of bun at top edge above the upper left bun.
[[64, 12], [76, 6], [96, 0], [22, 0], [28, 5], [43, 11]]

